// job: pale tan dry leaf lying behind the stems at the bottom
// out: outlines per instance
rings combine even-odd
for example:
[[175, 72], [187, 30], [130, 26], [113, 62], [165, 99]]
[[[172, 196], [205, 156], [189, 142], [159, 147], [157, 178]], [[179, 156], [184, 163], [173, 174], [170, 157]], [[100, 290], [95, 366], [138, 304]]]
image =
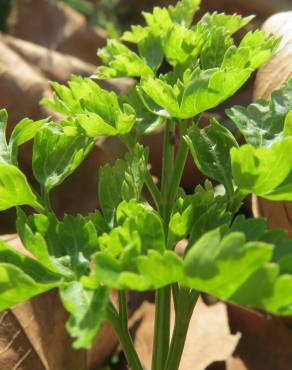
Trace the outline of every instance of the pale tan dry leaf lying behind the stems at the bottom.
[[[132, 323], [141, 321], [135, 333], [135, 347], [147, 370], [151, 367], [154, 315], [154, 304], [144, 302], [131, 320]], [[173, 321], [172, 308], [172, 327]], [[239, 338], [239, 333], [230, 333], [224, 303], [207, 306], [199, 299], [190, 322], [180, 370], [204, 370], [215, 361], [226, 360]]]

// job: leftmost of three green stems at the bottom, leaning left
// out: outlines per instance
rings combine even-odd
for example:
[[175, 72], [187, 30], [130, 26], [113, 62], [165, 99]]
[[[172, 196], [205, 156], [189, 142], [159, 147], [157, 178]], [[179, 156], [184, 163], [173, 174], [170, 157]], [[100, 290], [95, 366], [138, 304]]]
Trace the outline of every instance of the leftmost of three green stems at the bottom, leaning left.
[[[119, 295], [119, 301], [121, 299], [122, 307], [121, 311], [125, 310], [124, 301], [125, 297], [120, 297]], [[107, 309], [107, 319], [109, 320], [110, 324], [114, 328], [119, 341], [123, 347], [124, 354], [126, 356], [127, 362], [131, 370], [143, 370], [143, 367], [141, 365], [141, 362], [139, 360], [139, 357], [137, 355], [137, 352], [135, 351], [134, 344], [132, 341], [132, 338], [129, 333], [128, 325], [125, 328], [125, 324], [121, 322], [125, 319], [124, 317], [125, 312], [122, 314], [121, 312], [118, 313], [113, 306], [112, 303], [109, 304]]]

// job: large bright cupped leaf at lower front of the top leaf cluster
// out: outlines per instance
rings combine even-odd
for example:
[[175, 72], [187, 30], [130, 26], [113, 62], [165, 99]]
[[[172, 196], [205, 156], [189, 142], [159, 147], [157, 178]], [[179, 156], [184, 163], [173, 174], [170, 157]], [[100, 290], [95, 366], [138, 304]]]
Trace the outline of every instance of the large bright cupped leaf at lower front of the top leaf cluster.
[[233, 95], [249, 78], [251, 69], [213, 68], [189, 70], [184, 80], [170, 85], [161, 79], [147, 78], [142, 90], [171, 117], [191, 118], [214, 108]]

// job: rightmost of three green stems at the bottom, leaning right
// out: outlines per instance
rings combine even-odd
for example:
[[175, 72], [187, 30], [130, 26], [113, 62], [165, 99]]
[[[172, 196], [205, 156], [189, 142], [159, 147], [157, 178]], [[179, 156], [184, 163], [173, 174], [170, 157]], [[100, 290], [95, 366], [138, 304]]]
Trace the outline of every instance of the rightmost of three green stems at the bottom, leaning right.
[[190, 319], [199, 293], [187, 288], [180, 288], [178, 309], [175, 316], [175, 324], [170, 344], [169, 353], [164, 370], [178, 370], [187, 337]]

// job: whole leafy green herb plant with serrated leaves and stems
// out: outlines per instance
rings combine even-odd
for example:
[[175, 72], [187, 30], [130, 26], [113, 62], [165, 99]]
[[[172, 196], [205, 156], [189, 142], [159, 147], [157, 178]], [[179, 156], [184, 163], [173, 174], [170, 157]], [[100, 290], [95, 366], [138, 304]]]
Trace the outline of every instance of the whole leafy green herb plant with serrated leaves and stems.
[[[236, 45], [233, 34], [251, 17], [213, 13], [193, 24], [198, 6], [199, 0], [182, 0], [144, 13], [144, 27], [132, 27], [99, 51], [104, 65], [93, 78], [53, 83], [54, 99], [42, 103], [62, 115], [60, 122], [25, 118], [7, 142], [7, 113], [0, 113], [0, 210], [17, 207], [17, 231], [33, 256], [0, 243], [0, 309], [58, 288], [74, 347], [90, 347], [109, 320], [133, 370], [143, 367], [128, 331], [127, 289], [156, 292], [153, 370], [178, 369], [200, 292], [292, 314], [292, 241], [284, 230], [268, 230], [264, 219], [237, 215], [250, 194], [292, 200], [292, 80], [270, 101], [226, 111], [244, 145], [215, 118], [202, 128], [201, 115], [240, 89], [273, 56], [279, 40], [254, 31]], [[126, 95], [95, 81], [124, 76], [135, 81]], [[139, 141], [163, 125], [158, 186]], [[99, 136], [117, 136], [127, 154], [99, 171], [100, 210], [60, 220], [51, 190]], [[31, 139], [38, 192], [18, 167], [18, 148]], [[180, 181], [189, 152], [223, 192], [207, 180], [193, 194], [184, 193]], [[179, 256], [175, 246], [182, 239], [187, 245]], [[118, 290], [117, 307], [110, 289]]]

